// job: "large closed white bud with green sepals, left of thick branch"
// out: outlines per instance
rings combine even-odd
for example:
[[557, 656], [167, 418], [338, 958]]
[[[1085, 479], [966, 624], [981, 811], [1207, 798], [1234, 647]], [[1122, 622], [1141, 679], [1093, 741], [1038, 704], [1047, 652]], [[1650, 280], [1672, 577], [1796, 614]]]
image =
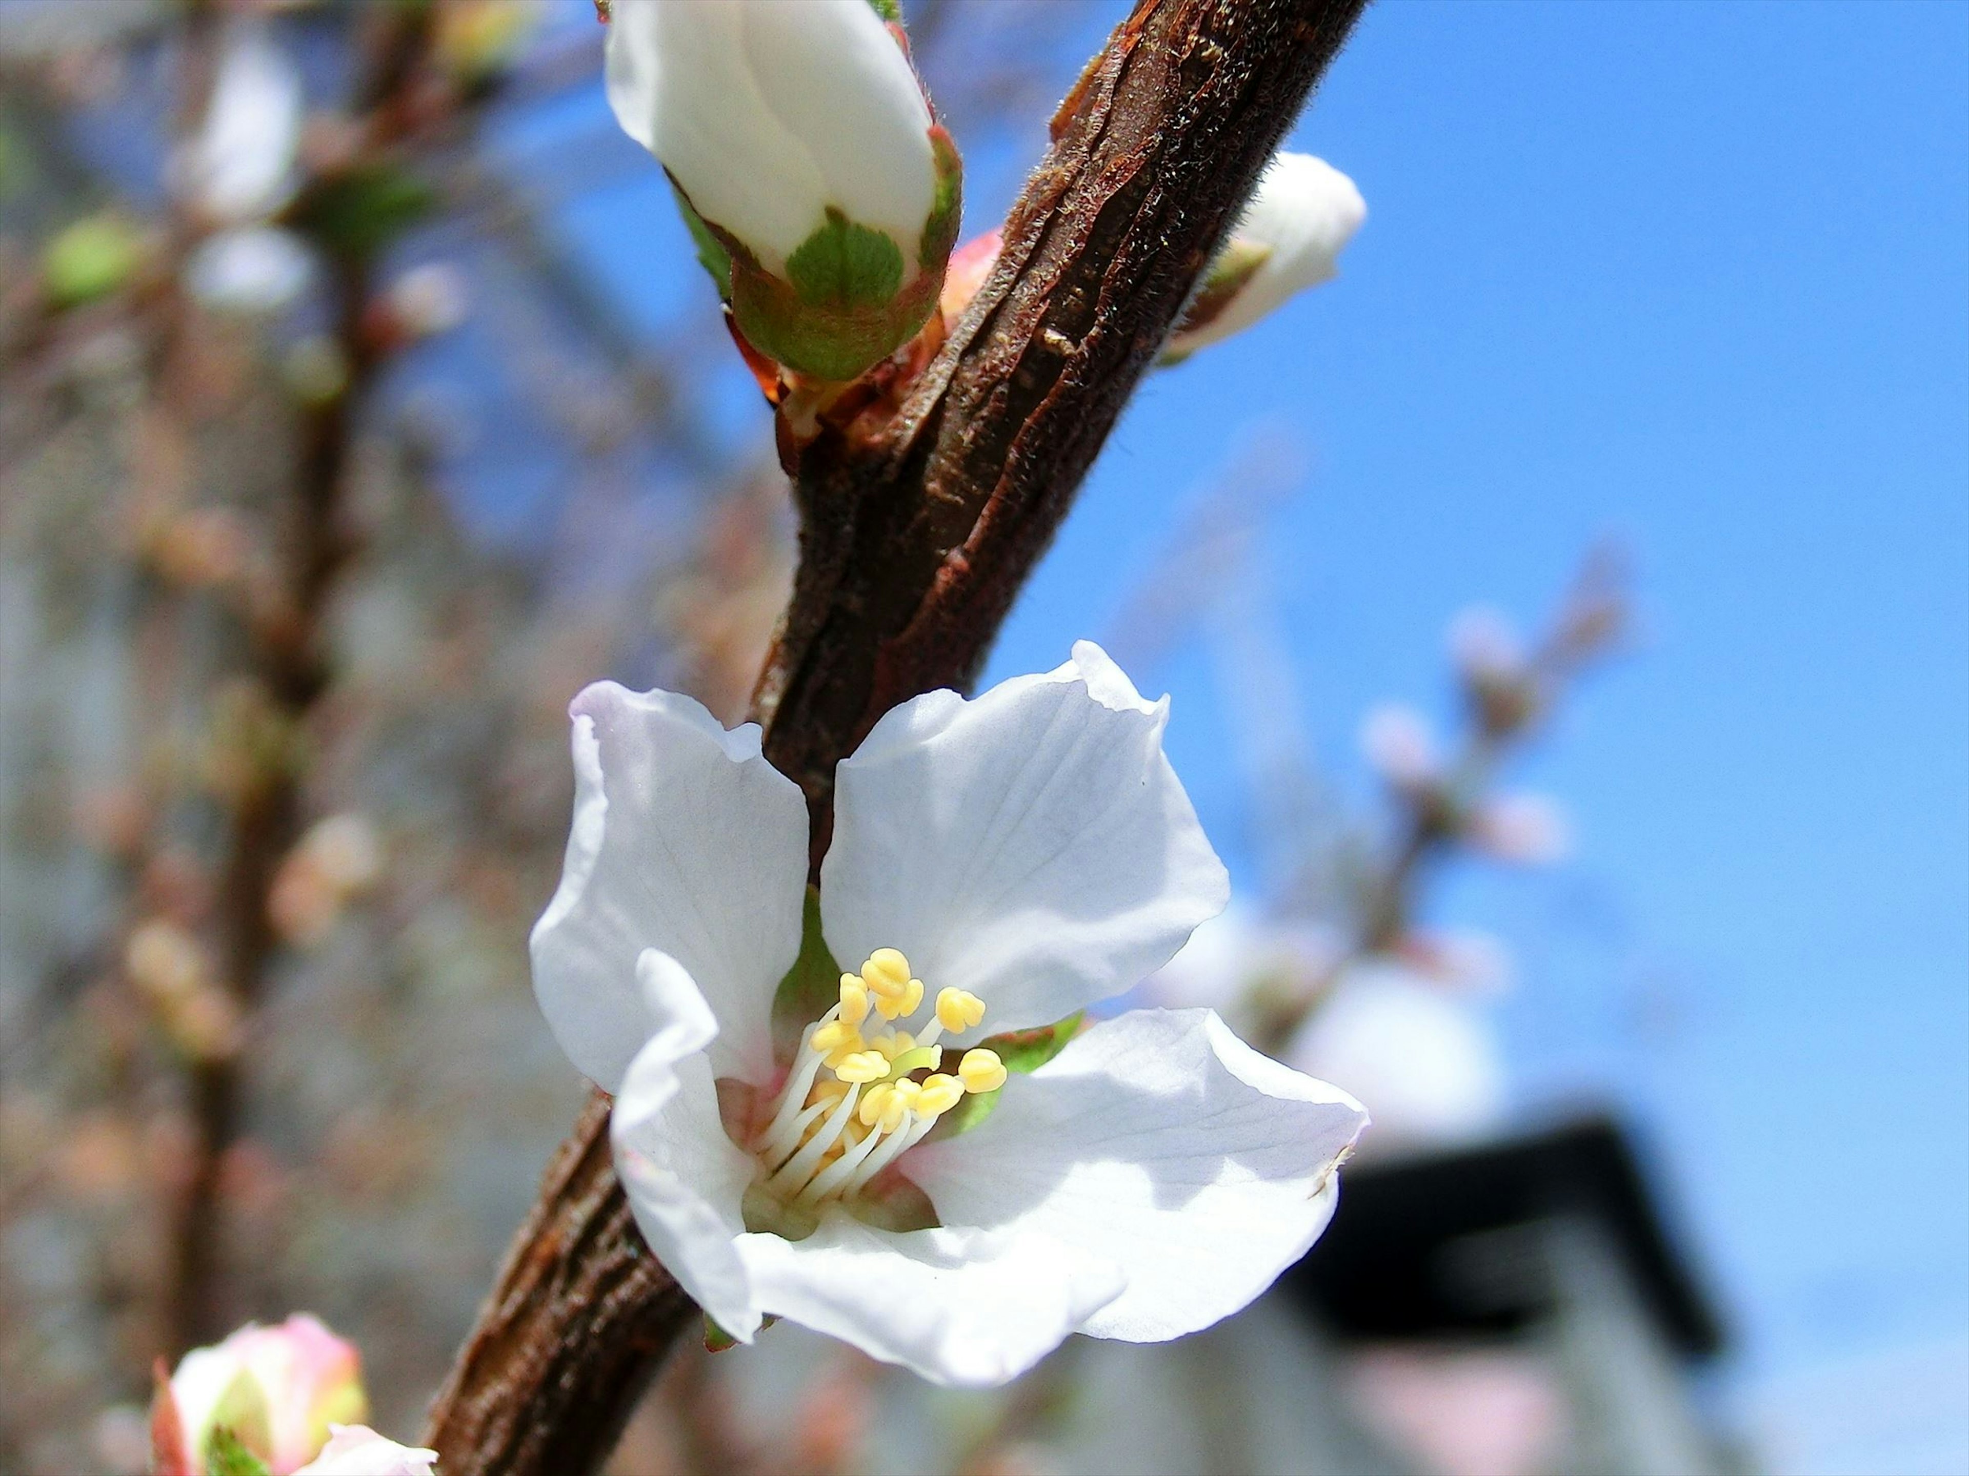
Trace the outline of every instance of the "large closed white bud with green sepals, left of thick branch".
[[929, 317], [961, 169], [868, 0], [614, 0], [608, 102], [758, 352], [853, 380]]

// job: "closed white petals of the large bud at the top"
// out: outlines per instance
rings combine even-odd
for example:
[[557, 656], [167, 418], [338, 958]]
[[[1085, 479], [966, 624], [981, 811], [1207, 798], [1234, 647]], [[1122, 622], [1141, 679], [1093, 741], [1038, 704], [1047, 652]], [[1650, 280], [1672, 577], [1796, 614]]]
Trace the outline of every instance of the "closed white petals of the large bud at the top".
[[784, 276], [827, 207], [904, 279], [935, 203], [929, 104], [868, 0], [616, 0], [608, 102], [699, 215]]

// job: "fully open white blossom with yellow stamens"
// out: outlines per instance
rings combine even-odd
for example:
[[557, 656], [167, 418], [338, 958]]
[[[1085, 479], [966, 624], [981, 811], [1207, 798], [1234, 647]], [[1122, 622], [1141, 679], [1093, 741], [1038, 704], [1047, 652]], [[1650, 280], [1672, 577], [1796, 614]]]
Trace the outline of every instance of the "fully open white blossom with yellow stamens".
[[644, 1236], [730, 1336], [788, 1317], [996, 1384], [1075, 1330], [1207, 1326], [1325, 1228], [1365, 1126], [1345, 1092], [1207, 1010], [1049, 1029], [1229, 893], [1168, 703], [1097, 646], [876, 722], [811, 899], [807, 807], [756, 726], [612, 683], [573, 718], [536, 992], [616, 1092]]

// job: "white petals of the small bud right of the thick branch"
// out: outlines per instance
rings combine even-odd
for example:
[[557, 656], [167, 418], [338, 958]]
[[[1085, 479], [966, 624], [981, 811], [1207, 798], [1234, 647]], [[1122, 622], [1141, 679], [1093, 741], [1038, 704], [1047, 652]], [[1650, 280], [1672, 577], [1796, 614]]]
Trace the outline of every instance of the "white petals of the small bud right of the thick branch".
[[1339, 274], [1339, 256], [1366, 220], [1355, 181], [1311, 154], [1276, 154], [1258, 179], [1233, 240], [1270, 248], [1244, 289], [1170, 348], [1195, 352], [1242, 333], [1286, 299]]

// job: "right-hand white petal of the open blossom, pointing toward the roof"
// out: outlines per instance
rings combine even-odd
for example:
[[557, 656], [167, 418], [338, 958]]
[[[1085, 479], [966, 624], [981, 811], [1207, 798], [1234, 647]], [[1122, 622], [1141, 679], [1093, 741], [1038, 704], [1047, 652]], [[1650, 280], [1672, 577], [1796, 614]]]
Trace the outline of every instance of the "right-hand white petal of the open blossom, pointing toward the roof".
[[1014, 1076], [969, 1134], [906, 1171], [947, 1226], [1036, 1234], [1114, 1261], [1128, 1289], [1083, 1332], [1160, 1342], [1244, 1307], [1333, 1216], [1366, 1126], [1209, 1010], [1136, 1010]]

